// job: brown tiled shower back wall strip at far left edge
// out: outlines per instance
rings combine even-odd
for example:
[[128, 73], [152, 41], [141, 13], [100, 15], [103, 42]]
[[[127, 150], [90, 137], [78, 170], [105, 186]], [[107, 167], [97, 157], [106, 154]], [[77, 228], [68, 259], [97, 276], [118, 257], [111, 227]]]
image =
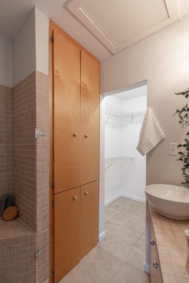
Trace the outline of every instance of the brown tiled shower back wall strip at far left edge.
[[12, 88], [0, 85], [0, 196], [12, 194]]

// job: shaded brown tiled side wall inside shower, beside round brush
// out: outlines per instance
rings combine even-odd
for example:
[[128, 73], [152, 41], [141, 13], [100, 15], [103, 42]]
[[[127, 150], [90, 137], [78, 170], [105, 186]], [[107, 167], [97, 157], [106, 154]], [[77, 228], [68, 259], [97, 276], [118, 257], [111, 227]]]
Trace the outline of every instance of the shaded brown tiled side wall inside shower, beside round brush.
[[19, 217], [36, 231], [35, 72], [12, 89], [13, 195]]

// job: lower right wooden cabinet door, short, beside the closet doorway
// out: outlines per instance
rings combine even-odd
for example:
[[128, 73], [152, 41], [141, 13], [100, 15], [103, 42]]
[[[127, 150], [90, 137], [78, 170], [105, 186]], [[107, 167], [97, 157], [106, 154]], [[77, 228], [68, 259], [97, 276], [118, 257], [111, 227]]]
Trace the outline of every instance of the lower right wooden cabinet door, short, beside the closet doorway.
[[81, 186], [80, 242], [82, 259], [98, 242], [98, 181]]

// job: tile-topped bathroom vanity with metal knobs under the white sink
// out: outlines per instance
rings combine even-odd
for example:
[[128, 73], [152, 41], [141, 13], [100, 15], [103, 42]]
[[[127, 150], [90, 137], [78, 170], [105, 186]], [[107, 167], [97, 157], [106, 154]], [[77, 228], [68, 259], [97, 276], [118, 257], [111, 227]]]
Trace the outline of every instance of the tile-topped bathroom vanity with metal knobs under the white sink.
[[151, 283], [189, 282], [185, 269], [185, 230], [189, 230], [189, 220], [164, 217], [150, 204], [149, 210]]

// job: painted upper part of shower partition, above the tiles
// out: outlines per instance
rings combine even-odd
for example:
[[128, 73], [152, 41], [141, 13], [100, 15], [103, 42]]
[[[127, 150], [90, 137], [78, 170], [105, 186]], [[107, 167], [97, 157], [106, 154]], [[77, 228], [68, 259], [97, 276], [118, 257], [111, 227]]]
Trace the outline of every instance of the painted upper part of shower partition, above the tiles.
[[49, 19], [36, 7], [13, 40], [13, 86], [33, 71], [49, 74]]

